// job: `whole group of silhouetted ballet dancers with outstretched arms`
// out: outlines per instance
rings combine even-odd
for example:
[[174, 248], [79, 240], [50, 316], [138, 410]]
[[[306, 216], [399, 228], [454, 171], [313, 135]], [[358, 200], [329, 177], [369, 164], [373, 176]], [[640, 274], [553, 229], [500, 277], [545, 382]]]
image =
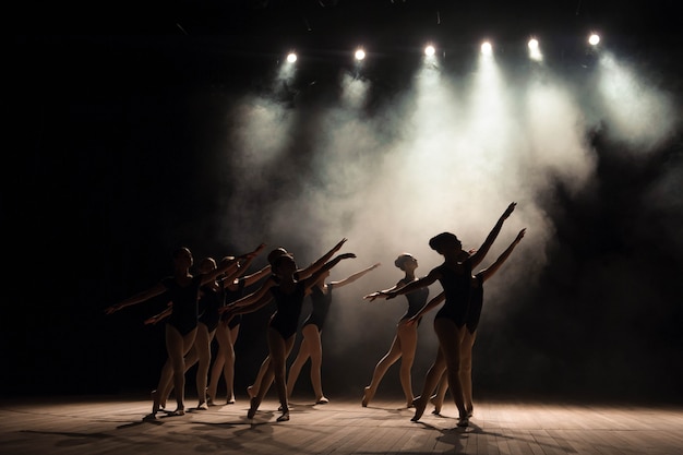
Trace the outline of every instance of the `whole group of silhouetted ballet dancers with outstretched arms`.
[[[393, 299], [405, 295], [408, 309], [397, 324], [388, 352], [378, 362], [370, 385], [363, 391], [361, 402], [363, 407], [367, 407], [374, 397], [388, 368], [402, 359], [399, 378], [406, 406], [415, 407], [411, 420], [417, 421], [421, 418], [430, 400], [434, 405], [434, 414], [439, 414], [446, 390], [450, 388], [458, 409], [458, 427], [469, 424], [474, 411], [471, 351], [483, 302], [483, 283], [510, 256], [523, 239], [526, 229], [517, 234], [515, 240], [493, 264], [476, 274], [472, 274], [472, 271], [482, 262], [515, 206], [516, 203], [507, 206], [479, 249], [464, 251], [460, 240], [454, 234], [442, 232], [429, 241], [430, 247], [443, 255], [444, 261], [441, 265], [432, 268], [426, 276], [417, 278], [415, 274], [418, 267], [417, 259], [409, 253], [403, 253], [394, 264], [405, 276], [388, 289], [364, 296], [364, 299], [374, 300]], [[160, 409], [166, 408], [166, 400], [173, 388], [177, 407], [169, 414], [176, 416], [184, 414], [185, 372], [195, 363], [197, 363], [197, 409], [207, 409], [209, 405], [217, 404], [217, 383], [221, 375], [227, 386], [226, 403], [235, 403], [233, 346], [241, 316], [272, 301], [275, 301], [276, 310], [269, 319], [266, 331], [268, 355], [261, 364], [253, 385], [248, 387], [250, 408], [247, 417], [252, 419], [255, 416], [274, 382], [280, 403], [278, 410], [281, 412], [277, 421], [289, 420], [289, 397], [301, 368], [309, 359], [315, 403], [328, 403], [321, 380], [321, 332], [332, 302], [332, 291], [380, 266], [376, 263], [345, 279], [326, 282], [331, 270], [340, 261], [356, 258], [354, 253], [337, 254], [345, 242], [346, 239], [342, 239], [305, 268], [298, 268], [293, 254], [284, 248], [277, 248], [268, 253], [268, 265], [249, 275], [245, 271], [265, 249], [265, 244], [260, 244], [253, 251], [240, 256], [223, 258], [218, 263], [212, 258], [205, 258], [200, 262], [197, 274], [191, 273], [192, 253], [188, 248], [181, 248], [172, 256], [172, 276], [107, 308], [106, 312], [110, 314], [153, 297], [164, 295], [167, 298], [168, 308], [145, 321], [146, 323], [166, 321], [165, 338], [168, 351], [168, 360], [161, 369], [157, 388], [152, 393], [153, 407], [147, 418], [155, 418]], [[436, 280], [440, 282], [443, 291], [428, 302], [429, 286]], [[248, 287], [257, 283], [261, 285], [255, 291], [245, 294]], [[287, 376], [287, 358], [295, 345], [307, 296], [311, 296], [312, 311], [303, 322], [301, 328], [303, 339]], [[439, 349], [434, 362], [428, 370], [422, 393], [415, 397], [410, 370], [417, 348], [417, 327], [422, 316], [440, 304], [441, 309], [433, 322]], [[218, 340], [218, 354], [211, 366], [211, 344], [214, 338]]]

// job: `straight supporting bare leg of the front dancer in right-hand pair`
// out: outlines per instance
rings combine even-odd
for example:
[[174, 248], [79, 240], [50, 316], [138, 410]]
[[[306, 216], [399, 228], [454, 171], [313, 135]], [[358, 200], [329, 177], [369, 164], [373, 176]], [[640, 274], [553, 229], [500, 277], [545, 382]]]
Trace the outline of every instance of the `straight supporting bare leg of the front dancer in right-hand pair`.
[[[468, 424], [467, 410], [463, 402], [463, 384], [460, 383], [460, 344], [465, 327], [458, 327], [455, 323], [445, 318], [434, 320], [434, 330], [439, 337], [439, 345], [446, 361], [448, 374], [448, 387], [453, 394], [453, 400], [458, 408], [458, 426]], [[435, 386], [436, 384], [434, 384]], [[433, 388], [432, 388], [433, 390]], [[431, 391], [430, 391], [431, 394]], [[430, 395], [427, 395], [429, 397]]]

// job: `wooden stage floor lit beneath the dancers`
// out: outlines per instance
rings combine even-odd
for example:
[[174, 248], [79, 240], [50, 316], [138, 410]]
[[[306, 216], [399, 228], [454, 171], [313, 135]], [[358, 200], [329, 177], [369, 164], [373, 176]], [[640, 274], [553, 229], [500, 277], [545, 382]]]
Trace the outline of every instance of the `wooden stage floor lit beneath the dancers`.
[[[471, 426], [442, 417], [411, 422], [400, 402], [292, 400], [291, 420], [276, 422], [268, 397], [253, 420], [248, 402], [143, 420], [141, 396], [4, 399], [0, 453], [84, 454], [683, 454], [683, 408], [558, 403], [478, 403]], [[194, 405], [188, 402], [188, 405]]]

